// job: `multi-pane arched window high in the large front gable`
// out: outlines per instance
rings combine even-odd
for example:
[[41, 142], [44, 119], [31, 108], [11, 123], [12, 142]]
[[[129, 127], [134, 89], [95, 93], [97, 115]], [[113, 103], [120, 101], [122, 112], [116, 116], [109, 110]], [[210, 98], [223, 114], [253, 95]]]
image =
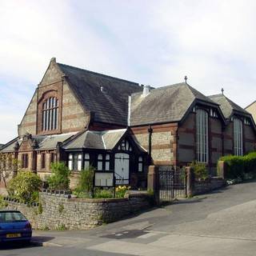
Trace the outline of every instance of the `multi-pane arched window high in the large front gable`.
[[58, 129], [58, 99], [50, 97], [42, 103], [42, 130], [56, 129]]

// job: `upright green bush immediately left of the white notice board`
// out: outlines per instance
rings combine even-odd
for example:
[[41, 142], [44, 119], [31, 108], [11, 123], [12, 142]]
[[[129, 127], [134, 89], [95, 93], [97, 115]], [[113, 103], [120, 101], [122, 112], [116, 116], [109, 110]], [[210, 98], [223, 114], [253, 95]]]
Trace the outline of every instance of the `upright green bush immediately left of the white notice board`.
[[86, 170], [82, 170], [79, 180], [77, 192], [91, 193], [94, 189], [94, 171], [93, 166], [89, 166]]

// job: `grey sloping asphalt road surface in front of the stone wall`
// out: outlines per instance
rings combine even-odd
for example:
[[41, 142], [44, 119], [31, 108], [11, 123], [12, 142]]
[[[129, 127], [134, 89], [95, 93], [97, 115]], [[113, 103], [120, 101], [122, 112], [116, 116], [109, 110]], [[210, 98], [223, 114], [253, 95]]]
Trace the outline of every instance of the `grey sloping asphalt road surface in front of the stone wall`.
[[256, 182], [228, 186], [93, 230], [34, 231], [0, 255], [256, 255]]

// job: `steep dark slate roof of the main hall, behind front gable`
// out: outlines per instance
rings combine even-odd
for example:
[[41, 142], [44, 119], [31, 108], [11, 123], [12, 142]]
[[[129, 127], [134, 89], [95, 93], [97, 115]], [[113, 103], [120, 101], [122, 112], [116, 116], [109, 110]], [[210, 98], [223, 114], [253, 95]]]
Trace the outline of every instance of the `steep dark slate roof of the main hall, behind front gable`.
[[128, 96], [141, 91], [142, 86], [136, 82], [57, 64], [84, 109], [94, 112], [95, 122], [127, 125]]

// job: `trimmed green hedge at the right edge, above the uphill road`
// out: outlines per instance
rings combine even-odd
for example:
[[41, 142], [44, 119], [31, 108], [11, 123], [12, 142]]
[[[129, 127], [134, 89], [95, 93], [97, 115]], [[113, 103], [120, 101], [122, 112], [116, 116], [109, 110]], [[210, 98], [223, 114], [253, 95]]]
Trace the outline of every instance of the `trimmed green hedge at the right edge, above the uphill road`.
[[245, 174], [256, 174], [256, 152], [244, 156], [226, 155], [219, 158], [226, 163], [226, 178], [242, 178]]

